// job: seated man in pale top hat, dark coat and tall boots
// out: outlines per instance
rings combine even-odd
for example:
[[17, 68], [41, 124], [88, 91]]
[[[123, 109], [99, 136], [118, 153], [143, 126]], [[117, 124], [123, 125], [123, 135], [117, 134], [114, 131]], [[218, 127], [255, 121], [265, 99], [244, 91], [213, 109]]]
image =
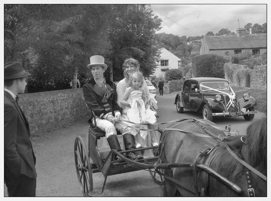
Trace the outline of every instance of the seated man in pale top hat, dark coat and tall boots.
[[[93, 123], [95, 118], [97, 126], [105, 131], [110, 149], [120, 152], [120, 143], [114, 123], [115, 118], [120, 118], [122, 109], [117, 104], [116, 85], [104, 78], [104, 72], [107, 69], [104, 57], [99, 55], [90, 57], [88, 68], [91, 70], [93, 78], [83, 85], [83, 94], [88, 108], [95, 114], [91, 117], [91, 121]], [[134, 136], [130, 136], [132, 135], [123, 137], [125, 150], [135, 149]], [[135, 155], [134, 152], [126, 153], [125, 156], [131, 160], [143, 159], [142, 155]], [[115, 159], [117, 160], [118, 157]]]

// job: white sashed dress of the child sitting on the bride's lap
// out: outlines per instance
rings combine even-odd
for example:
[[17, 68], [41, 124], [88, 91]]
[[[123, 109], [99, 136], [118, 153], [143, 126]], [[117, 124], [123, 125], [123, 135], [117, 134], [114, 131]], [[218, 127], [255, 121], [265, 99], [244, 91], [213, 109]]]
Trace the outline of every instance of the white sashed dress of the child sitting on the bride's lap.
[[[131, 87], [127, 88], [125, 92], [130, 88]], [[123, 113], [127, 115], [129, 121], [131, 122], [154, 124], [156, 122], [155, 116], [156, 112], [150, 110], [149, 105], [147, 105], [148, 107], [145, 108], [142, 95], [143, 93], [141, 90], [132, 91], [127, 100], [128, 103], [130, 104], [130, 107], [126, 106], [125, 110], [123, 110]], [[132, 135], [135, 136], [138, 132], [140, 132], [140, 137], [142, 139], [138, 135], [137, 140], [141, 144], [141, 147], [147, 147], [145, 142], [147, 131], [137, 129], [137, 128], [148, 129], [147, 125], [137, 125], [129, 123], [129, 126], [135, 127], [135, 128], [129, 127], [129, 131], [131, 132]]]

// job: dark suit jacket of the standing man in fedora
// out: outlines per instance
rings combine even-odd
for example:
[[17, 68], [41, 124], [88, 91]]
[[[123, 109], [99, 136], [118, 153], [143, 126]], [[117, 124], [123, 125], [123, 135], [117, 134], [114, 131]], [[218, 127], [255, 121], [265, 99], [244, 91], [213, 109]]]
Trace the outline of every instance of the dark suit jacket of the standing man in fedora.
[[4, 91], [4, 177], [36, 178], [29, 123], [12, 95]]

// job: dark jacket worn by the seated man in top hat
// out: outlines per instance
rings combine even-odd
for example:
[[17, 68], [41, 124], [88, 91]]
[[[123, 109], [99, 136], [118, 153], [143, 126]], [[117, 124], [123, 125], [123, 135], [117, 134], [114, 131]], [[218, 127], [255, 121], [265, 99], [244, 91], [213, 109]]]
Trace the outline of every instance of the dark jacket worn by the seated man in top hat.
[[117, 104], [116, 85], [109, 80], [106, 80], [105, 94], [99, 89], [93, 78], [83, 85], [83, 94], [88, 108], [100, 118], [109, 112], [112, 112], [114, 116], [115, 111], [121, 112], [122, 110]]

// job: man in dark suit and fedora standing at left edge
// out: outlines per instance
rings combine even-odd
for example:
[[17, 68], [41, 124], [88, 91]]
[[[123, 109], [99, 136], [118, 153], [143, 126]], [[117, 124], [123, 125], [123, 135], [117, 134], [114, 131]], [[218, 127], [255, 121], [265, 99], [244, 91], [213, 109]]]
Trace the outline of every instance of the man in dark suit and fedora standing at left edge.
[[17, 97], [24, 93], [29, 75], [19, 62], [4, 64], [4, 181], [8, 196], [36, 195], [36, 158], [29, 123]]

